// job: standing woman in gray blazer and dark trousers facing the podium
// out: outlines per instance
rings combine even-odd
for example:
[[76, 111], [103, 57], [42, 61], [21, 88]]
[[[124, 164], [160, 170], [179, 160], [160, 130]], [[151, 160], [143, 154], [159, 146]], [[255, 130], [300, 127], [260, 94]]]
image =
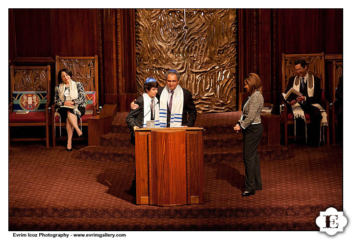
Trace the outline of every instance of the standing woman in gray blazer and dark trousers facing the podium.
[[259, 154], [257, 152], [263, 134], [260, 113], [263, 108], [261, 81], [257, 74], [250, 73], [245, 79], [245, 88], [251, 95], [242, 104], [242, 115], [236, 126], [236, 132], [243, 133], [243, 161], [245, 164], [245, 192], [242, 196], [251, 196], [255, 190], [262, 190]]

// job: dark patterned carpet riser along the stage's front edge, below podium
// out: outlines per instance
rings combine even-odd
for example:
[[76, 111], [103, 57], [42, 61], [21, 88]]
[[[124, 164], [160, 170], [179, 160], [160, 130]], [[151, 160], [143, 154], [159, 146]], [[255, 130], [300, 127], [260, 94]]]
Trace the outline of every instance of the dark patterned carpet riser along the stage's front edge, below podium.
[[[237, 207], [236, 204], [227, 207], [206, 205], [157, 207], [157, 206], [129, 206], [116, 208], [45, 208], [45, 207], [10, 207], [9, 218], [140, 218], [140, 219], [187, 219], [187, 218], [281, 218], [299, 217], [316, 214], [334, 207], [342, 211], [341, 205], [304, 205], [304, 206], [260, 206]], [[341, 210], [339, 210], [341, 209]]]

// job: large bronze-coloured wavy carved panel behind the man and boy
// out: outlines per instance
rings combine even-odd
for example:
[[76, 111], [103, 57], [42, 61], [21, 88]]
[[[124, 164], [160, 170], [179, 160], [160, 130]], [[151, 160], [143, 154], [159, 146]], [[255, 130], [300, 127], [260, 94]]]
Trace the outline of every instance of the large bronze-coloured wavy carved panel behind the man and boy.
[[176, 69], [199, 113], [236, 110], [235, 9], [137, 9], [137, 92]]

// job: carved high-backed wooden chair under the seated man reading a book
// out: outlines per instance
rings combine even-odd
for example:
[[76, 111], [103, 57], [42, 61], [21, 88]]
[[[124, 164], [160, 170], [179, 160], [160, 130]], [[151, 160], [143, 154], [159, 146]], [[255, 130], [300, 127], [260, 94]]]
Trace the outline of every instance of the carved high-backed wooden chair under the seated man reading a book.
[[[295, 76], [295, 61], [298, 59], [304, 59], [307, 62], [307, 70], [311, 74], [321, 79], [322, 88], [322, 107], [327, 112], [328, 118], [328, 103], [325, 100], [325, 56], [324, 52], [318, 54], [282, 54], [282, 92], [285, 91], [288, 80], [290, 77]], [[310, 123], [309, 114], [305, 114], [306, 123]], [[287, 106], [284, 105], [283, 112], [281, 113], [281, 123], [284, 124], [284, 137], [285, 146], [288, 145], [288, 131], [287, 126], [294, 124], [294, 117], [292, 113], [288, 113]], [[326, 143], [329, 145], [329, 128], [326, 128], [327, 140]], [[294, 138], [295, 136], [292, 136]], [[290, 137], [291, 138], [291, 137]]]

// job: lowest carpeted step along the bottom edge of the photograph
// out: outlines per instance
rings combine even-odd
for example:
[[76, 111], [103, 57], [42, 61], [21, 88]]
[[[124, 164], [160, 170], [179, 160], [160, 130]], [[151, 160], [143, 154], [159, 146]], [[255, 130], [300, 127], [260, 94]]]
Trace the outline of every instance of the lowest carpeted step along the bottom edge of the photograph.
[[[187, 219], [9, 218], [9, 231], [319, 231], [315, 223], [316, 218], [316, 215]], [[73, 233], [68, 234], [73, 236]], [[99, 234], [104, 233], [94, 236], [100, 237]], [[129, 237], [128, 233], [123, 234]]]

